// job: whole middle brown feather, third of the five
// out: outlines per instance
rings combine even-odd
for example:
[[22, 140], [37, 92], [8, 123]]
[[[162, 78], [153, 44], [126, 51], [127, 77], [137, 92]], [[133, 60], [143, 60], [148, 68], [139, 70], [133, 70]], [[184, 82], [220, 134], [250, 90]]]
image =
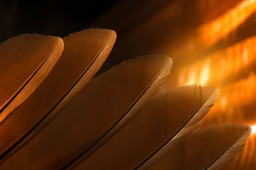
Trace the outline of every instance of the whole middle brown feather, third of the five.
[[140, 56], [95, 77], [0, 169], [61, 169], [84, 160], [154, 95], [171, 66], [166, 56]]

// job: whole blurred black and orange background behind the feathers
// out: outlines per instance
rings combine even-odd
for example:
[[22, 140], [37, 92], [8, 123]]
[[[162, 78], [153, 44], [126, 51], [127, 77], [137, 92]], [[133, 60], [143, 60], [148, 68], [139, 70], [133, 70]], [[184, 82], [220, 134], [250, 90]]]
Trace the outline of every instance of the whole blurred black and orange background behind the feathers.
[[[141, 54], [173, 59], [156, 95], [186, 84], [220, 88], [204, 119], [256, 130], [256, 0], [0, 0], [0, 42], [22, 33], [66, 36], [88, 27], [114, 29], [115, 47], [102, 66]], [[98, 74], [99, 74], [98, 73]], [[256, 135], [223, 169], [255, 169]]]

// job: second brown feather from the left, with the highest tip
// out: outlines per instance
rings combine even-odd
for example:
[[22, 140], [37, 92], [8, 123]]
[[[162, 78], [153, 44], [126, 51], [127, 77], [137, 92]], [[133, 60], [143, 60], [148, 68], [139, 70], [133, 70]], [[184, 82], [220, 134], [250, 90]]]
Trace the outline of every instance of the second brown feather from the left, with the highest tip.
[[51, 73], [0, 126], [0, 162], [38, 134], [90, 81], [115, 39], [115, 31], [108, 29], [87, 29], [63, 38], [65, 49]]

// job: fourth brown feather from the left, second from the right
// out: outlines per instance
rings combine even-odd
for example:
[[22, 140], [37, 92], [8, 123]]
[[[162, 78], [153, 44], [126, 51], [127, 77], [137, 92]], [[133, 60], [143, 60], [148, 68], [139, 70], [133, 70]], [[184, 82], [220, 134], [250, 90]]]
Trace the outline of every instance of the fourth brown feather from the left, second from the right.
[[145, 169], [173, 148], [216, 102], [218, 89], [184, 86], [152, 98], [77, 169]]

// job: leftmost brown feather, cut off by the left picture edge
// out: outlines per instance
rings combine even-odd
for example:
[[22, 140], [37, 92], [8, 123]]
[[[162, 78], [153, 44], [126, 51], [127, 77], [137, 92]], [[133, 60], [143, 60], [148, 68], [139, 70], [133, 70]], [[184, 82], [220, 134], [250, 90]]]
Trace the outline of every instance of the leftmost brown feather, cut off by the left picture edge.
[[29, 34], [0, 45], [0, 125], [44, 81], [63, 46], [56, 36]]

